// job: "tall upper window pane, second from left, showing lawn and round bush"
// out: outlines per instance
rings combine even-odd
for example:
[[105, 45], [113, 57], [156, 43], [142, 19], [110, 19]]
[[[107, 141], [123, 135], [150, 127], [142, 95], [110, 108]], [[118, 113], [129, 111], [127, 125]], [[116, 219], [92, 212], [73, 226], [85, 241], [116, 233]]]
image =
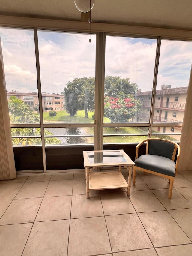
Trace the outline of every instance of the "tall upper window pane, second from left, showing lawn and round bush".
[[38, 31], [44, 123], [94, 123], [96, 36], [91, 39]]

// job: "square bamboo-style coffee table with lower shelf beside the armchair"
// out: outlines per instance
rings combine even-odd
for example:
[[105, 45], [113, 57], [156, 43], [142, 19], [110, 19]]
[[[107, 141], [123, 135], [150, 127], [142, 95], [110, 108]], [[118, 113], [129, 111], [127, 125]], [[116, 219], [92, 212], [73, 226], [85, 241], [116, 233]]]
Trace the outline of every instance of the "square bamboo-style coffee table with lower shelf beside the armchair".
[[[90, 190], [128, 188], [131, 190], [131, 173], [135, 163], [124, 150], [93, 150], [83, 151], [86, 194]], [[122, 175], [122, 166], [129, 171], [128, 183]], [[101, 167], [118, 167], [119, 170], [102, 171]], [[99, 170], [98, 170], [99, 169]]]

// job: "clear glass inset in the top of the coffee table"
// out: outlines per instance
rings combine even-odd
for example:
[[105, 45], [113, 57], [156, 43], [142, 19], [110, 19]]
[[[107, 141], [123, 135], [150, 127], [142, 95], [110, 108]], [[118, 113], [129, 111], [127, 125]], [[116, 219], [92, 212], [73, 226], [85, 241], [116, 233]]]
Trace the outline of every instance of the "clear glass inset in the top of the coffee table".
[[89, 164], [126, 163], [128, 160], [120, 151], [88, 152]]

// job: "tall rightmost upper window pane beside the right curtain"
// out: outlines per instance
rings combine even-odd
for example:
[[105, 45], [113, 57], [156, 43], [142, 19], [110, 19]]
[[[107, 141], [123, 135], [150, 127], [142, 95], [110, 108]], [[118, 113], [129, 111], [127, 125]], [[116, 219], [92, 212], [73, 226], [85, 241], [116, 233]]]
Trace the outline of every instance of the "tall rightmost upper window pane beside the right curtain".
[[[154, 123], [183, 122], [191, 61], [192, 42], [161, 41]], [[171, 132], [178, 133], [177, 130], [172, 127]]]

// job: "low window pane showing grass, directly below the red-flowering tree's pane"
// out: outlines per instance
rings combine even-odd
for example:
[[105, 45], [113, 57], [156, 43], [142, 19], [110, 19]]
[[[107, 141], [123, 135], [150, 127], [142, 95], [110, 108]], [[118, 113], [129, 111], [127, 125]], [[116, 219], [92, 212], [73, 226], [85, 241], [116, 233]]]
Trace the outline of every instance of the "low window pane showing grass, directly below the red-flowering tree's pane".
[[[140, 136], [139, 136], [140, 135]], [[148, 127], [104, 127], [104, 143], [131, 143], [147, 139]]]

